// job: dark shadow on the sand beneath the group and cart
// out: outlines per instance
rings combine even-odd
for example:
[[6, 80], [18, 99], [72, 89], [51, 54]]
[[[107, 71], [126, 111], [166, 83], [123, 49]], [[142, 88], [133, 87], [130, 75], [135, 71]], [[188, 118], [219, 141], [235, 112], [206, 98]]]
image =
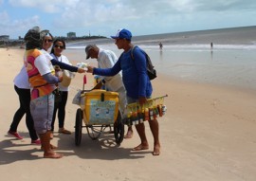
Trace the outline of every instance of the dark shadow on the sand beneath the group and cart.
[[[22, 134], [29, 137], [28, 134]], [[131, 152], [130, 148], [123, 148], [115, 141], [114, 135], [102, 134], [99, 139], [93, 140], [87, 134], [82, 134], [80, 146], [75, 145], [75, 136], [59, 134], [53, 138], [58, 139], [56, 150], [57, 153], [64, 156], [77, 155], [82, 159], [101, 159], [101, 160], [118, 160], [118, 159], [137, 159], [143, 158], [144, 154], [151, 154], [150, 151]], [[123, 140], [125, 141], [125, 139]], [[55, 141], [52, 141], [54, 144]], [[22, 140], [9, 138], [0, 142], [0, 165], [10, 164], [16, 161], [35, 160], [43, 158], [43, 152], [38, 145], [31, 145]]]

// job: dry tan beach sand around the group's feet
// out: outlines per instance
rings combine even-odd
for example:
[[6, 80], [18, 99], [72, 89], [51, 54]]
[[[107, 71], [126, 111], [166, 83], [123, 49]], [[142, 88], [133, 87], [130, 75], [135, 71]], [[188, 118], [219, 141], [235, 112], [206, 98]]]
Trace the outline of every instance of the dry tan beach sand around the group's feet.
[[[131, 152], [137, 133], [120, 146], [113, 135], [98, 140], [82, 129], [82, 143], [75, 146], [76, 110], [72, 104], [82, 76], [71, 82], [65, 128], [71, 136], [55, 133], [53, 144], [62, 159], [44, 159], [40, 146], [30, 145], [25, 118], [16, 140], [6, 133], [19, 106], [13, 78], [20, 70], [24, 49], [0, 49], [0, 174], [3, 180], [202, 180], [254, 181], [256, 178], [256, 93], [212, 84], [179, 81], [158, 75], [153, 97], [168, 94], [167, 113], [159, 118], [161, 154], [153, 156], [153, 137], [146, 122], [150, 149]], [[72, 55], [67, 55], [72, 60]], [[85, 89], [93, 84], [87, 75]], [[56, 125], [57, 125], [56, 120]], [[135, 130], [135, 129], [134, 129]]]

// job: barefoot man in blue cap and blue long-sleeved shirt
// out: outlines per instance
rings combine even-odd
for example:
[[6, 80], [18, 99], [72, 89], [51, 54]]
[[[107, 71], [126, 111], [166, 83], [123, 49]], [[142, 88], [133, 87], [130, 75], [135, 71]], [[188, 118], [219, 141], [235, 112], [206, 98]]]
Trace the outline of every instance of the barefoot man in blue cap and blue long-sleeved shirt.
[[[112, 68], [96, 68], [88, 66], [87, 72], [101, 76], [114, 76], [122, 70], [122, 81], [126, 89], [127, 103], [139, 102], [140, 105], [146, 103], [147, 98], [152, 95], [152, 84], [147, 75], [146, 57], [143, 51], [137, 47], [134, 49], [134, 58], [131, 57], [132, 33], [121, 28], [118, 30], [116, 36], [111, 36], [115, 39], [115, 44], [119, 49], [123, 49], [123, 53], [119, 57], [119, 61], [115, 63]], [[159, 142], [159, 126], [157, 119], [149, 120], [151, 132], [154, 136], [154, 151], [153, 155], [160, 154]], [[140, 144], [133, 149], [133, 151], [148, 150], [149, 144], [145, 134], [144, 123], [136, 125], [138, 136], [140, 137]]]

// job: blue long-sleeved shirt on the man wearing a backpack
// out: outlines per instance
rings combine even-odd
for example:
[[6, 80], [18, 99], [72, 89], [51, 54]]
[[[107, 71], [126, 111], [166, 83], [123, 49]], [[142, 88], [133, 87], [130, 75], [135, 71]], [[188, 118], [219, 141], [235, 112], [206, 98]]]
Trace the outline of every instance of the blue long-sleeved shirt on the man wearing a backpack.
[[122, 70], [122, 81], [125, 86], [127, 96], [133, 99], [139, 97], [151, 97], [153, 88], [147, 74], [146, 56], [139, 48], [135, 48], [134, 60], [131, 57], [131, 49], [123, 52], [119, 61], [107, 69], [94, 68], [94, 74], [101, 76], [114, 76]]

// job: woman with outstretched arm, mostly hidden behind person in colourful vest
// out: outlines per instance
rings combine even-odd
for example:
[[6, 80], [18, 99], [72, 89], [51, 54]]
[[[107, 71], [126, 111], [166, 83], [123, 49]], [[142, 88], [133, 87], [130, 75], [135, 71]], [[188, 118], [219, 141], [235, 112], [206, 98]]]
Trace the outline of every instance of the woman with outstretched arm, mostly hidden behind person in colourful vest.
[[[59, 65], [62, 69], [69, 70], [71, 72], [78, 72], [78, 73], [84, 73], [85, 70], [82, 68], [78, 68], [76, 66], [72, 66], [66, 63], [61, 63], [55, 59], [53, 59], [47, 50], [51, 47], [53, 42], [53, 36], [48, 30], [46, 34], [43, 34], [43, 45], [42, 45], [42, 52], [46, 55], [47, 60], [49, 60], [53, 65]], [[34, 122], [30, 114], [30, 85], [28, 82], [27, 77], [27, 70], [26, 67], [23, 65], [20, 72], [16, 75], [16, 77], [13, 80], [14, 82], [14, 90], [17, 93], [20, 101], [20, 107], [15, 112], [11, 124], [9, 126], [8, 134], [9, 136], [13, 136], [17, 139], [23, 139], [23, 136], [20, 136], [20, 134], [17, 132], [18, 125], [21, 121], [21, 119], [26, 114], [26, 125], [27, 130], [29, 133], [29, 136], [31, 138], [31, 144], [35, 145], [41, 145], [41, 141], [38, 138], [38, 135], [36, 134], [36, 131], [34, 129]], [[50, 137], [52, 138], [53, 135], [51, 134]], [[55, 146], [51, 145], [52, 148], [56, 148]]]

